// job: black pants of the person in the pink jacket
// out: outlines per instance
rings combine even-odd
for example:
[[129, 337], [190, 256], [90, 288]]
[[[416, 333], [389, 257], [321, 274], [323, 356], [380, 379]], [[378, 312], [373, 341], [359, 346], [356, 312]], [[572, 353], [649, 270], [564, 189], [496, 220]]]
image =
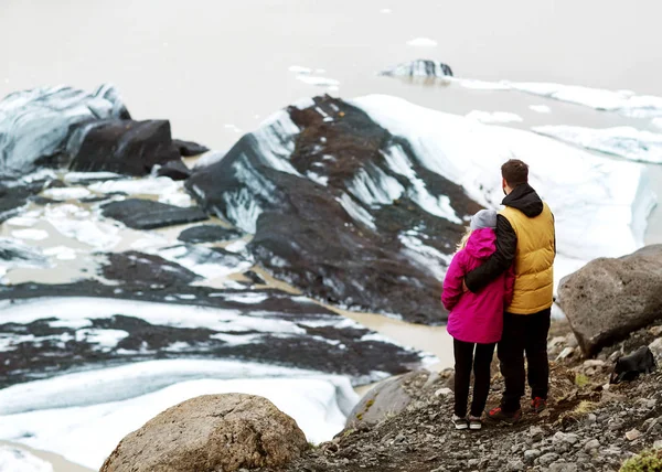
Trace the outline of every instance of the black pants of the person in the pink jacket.
[[[453, 340], [452, 343], [456, 357], [455, 378], [455, 414], [461, 418], [467, 416], [467, 403], [469, 401], [469, 383], [471, 369], [473, 368], [473, 400], [471, 401], [471, 415], [480, 417], [485, 408], [488, 395], [490, 394], [490, 364], [494, 355], [493, 344], [473, 344]], [[476, 347], [476, 358], [473, 348]]]

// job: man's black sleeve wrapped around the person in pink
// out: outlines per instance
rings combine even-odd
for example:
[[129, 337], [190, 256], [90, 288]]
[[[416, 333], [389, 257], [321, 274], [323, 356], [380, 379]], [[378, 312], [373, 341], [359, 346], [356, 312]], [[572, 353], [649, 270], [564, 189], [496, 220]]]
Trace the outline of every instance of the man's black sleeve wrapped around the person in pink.
[[496, 216], [496, 250], [482, 266], [465, 276], [467, 288], [473, 293], [505, 272], [515, 259], [517, 235], [505, 216]]

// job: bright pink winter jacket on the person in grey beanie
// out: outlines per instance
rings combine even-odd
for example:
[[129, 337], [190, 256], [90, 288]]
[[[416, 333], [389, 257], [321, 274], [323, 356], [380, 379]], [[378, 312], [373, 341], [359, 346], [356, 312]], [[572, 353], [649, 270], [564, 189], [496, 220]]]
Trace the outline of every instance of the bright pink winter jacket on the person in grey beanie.
[[478, 293], [462, 291], [465, 275], [496, 250], [496, 235], [491, 228], [471, 233], [467, 247], [455, 255], [446, 278], [441, 302], [450, 312], [448, 333], [467, 343], [489, 344], [501, 340], [503, 311], [513, 297], [515, 278], [512, 269]]

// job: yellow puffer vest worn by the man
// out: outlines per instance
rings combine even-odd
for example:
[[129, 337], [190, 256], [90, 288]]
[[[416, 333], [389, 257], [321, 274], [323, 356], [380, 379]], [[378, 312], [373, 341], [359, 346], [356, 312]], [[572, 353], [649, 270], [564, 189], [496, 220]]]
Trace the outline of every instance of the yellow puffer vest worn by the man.
[[506, 206], [500, 212], [517, 235], [514, 271], [515, 289], [509, 313], [532, 314], [552, 307], [554, 297], [554, 215], [546, 203], [530, 218]]

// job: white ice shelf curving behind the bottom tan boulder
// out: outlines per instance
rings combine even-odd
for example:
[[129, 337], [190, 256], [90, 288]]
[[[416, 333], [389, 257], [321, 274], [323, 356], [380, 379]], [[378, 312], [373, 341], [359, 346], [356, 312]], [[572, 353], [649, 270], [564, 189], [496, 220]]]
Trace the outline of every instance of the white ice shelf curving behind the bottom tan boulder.
[[153, 361], [0, 390], [0, 438], [96, 470], [126, 435], [159, 412], [224, 393], [270, 399], [312, 442], [339, 432], [357, 400], [349, 380], [332, 375], [229, 361]]

